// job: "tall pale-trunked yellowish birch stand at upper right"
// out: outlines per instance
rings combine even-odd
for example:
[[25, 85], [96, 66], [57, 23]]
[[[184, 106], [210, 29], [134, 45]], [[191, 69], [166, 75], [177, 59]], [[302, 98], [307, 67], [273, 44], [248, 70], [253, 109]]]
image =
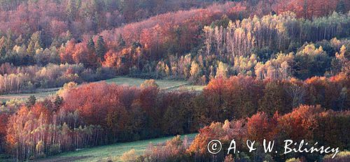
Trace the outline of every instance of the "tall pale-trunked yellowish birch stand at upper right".
[[[233, 60], [251, 52], [270, 50], [267, 53], [293, 52], [305, 42], [346, 38], [350, 35], [349, 15], [332, 13], [314, 20], [297, 19], [295, 13], [248, 17], [244, 20], [221, 20], [204, 27], [205, 54], [216, 54]], [[264, 52], [265, 54], [266, 52]], [[258, 53], [262, 60], [269, 55]], [[232, 61], [231, 61], [232, 62]]]

